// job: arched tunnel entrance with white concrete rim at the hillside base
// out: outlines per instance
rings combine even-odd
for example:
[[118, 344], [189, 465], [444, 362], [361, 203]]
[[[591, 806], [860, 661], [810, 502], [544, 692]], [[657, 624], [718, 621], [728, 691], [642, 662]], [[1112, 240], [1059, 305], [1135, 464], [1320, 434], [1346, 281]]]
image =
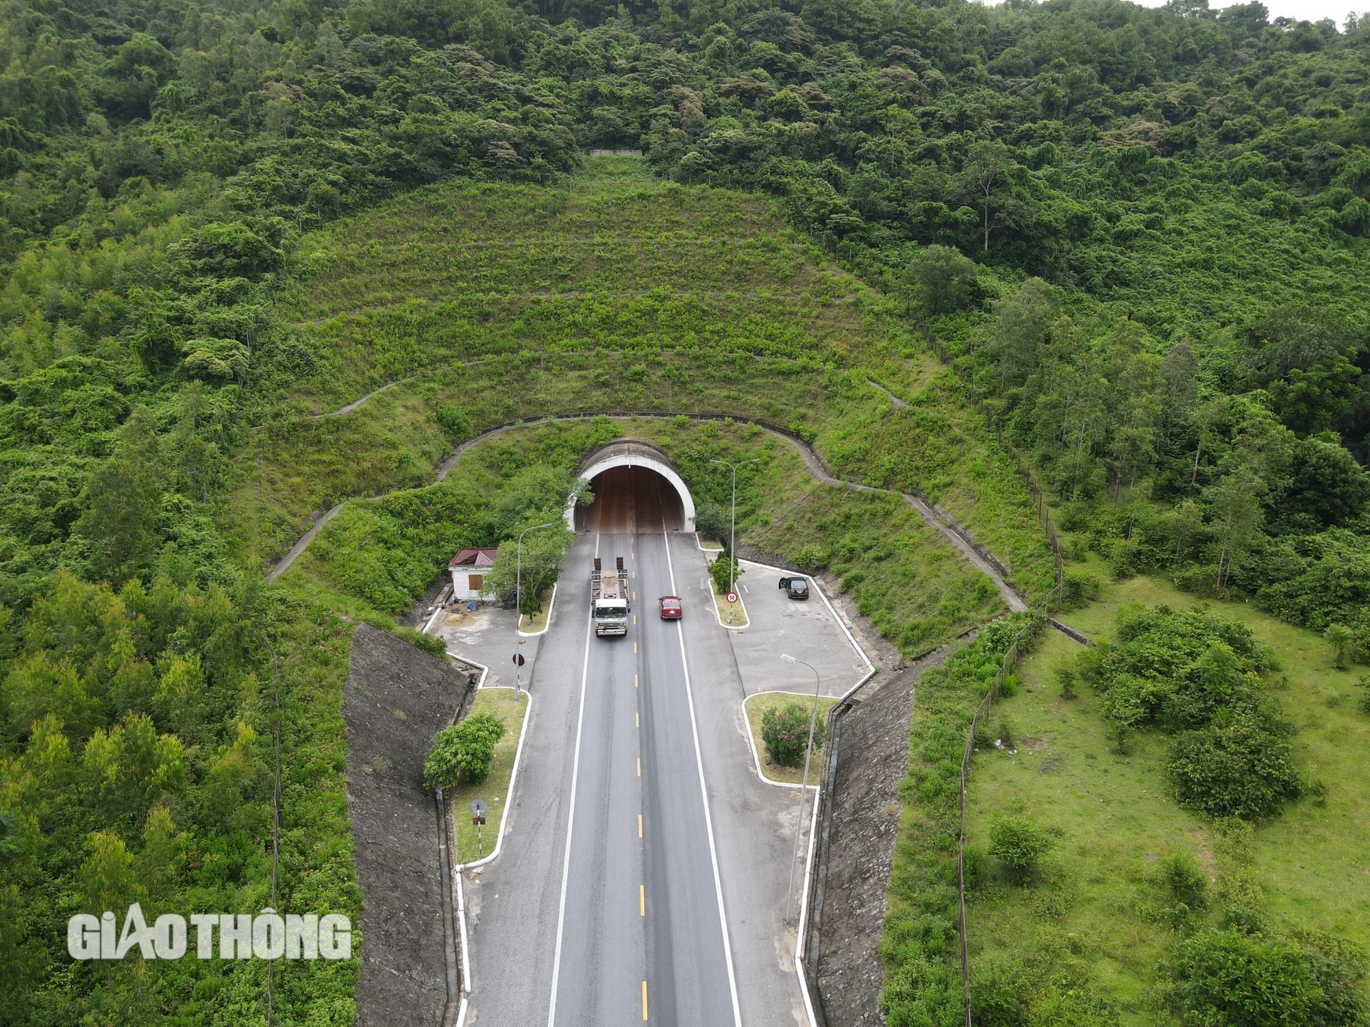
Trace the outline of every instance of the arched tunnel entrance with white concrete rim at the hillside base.
[[575, 531], [695, 530], [695, 501], [670, 459], [645, 442], [611, 442], [588, 456], [580, 477], [595, 501], [567, 507]]

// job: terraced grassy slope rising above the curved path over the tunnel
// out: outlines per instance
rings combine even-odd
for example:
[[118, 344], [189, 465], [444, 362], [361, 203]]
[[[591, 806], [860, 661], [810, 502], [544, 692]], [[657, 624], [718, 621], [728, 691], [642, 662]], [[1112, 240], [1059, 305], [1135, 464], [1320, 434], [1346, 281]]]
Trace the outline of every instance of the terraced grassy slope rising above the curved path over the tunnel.
[[297, 271], [290, 327], [263, 345], [275, 398], [240, 459], [238, 523], [263, 557], [340, 500], [430, 483], [493, 423], [688, 411], [786, 426], [840, 474], [927, 492], [1022, 590], [1049, 581], [1026, 493], [954, 377], [767, 200], [600, 157], [569, 188], [422, 190], [307, 238]]

